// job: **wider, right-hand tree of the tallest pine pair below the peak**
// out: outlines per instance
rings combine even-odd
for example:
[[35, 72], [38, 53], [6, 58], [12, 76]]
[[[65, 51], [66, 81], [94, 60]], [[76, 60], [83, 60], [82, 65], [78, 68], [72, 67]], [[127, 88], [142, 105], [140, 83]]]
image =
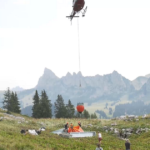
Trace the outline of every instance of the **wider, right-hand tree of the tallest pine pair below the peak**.
[[52, 104], [48, 100], [48, 96], [43, 90], [41, 92], [41, 99], [40, 99], [40, 117], [41, 118], [51, 118], [52, 117]]

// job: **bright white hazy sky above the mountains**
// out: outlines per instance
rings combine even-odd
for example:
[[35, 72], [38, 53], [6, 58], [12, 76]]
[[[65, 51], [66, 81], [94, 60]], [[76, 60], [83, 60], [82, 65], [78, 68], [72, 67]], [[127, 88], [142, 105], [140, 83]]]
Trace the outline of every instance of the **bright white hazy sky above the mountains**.
[[[150, 1], [85, 0], [85, 17], [66, 18], [72, 0], [0, 0], [0, 90], [56, 76], [116, 70], [129, 80], [150, 74]], [[78, 32], [79, 27], [79, 32]]]

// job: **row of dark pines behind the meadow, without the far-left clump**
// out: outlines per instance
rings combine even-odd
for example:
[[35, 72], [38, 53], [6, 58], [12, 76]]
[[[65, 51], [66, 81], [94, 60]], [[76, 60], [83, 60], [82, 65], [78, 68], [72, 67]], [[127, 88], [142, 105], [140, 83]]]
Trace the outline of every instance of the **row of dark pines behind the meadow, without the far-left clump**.
[[[52, 118], [52, 104], [48, 99], [46, 91], [43, 90], [39, 96], [38, 91], [35, 91], [33, 97], [32, 117], [34, 118]], [[82, 114], [75, 110], [71, 100], [64, 103], [62, 95], [58, 95], [54, 103], [54, 117], [55, 118], [97, 118], [96, 114], [89, 114], [85, 109]]]

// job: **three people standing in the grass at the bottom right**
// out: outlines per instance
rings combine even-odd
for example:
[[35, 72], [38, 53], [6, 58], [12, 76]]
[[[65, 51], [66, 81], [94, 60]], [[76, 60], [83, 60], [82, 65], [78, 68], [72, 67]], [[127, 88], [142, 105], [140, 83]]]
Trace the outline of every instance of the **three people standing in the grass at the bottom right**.
[[[100, 132], [98, 132], [98, 141], [99, 143], [97, 144], [97, 147], [95, 150], [103, 150], [103, 148], [101, 147], [102, 134]], [[126, 150], [130, 150], [130, 141], [128, 139], [125, 142], [125, 148]]]

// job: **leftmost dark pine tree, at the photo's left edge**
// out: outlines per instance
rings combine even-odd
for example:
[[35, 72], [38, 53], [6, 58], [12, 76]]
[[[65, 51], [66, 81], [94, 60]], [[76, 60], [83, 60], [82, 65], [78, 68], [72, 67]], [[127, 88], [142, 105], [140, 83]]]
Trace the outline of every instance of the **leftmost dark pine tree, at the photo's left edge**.
[[8, 88], [7, 91], [5, 91], [4, 93], [4, 101], [3, 101], [3, 108], [7, 109], [8, 112], [11, 110], [10, 102], [11, 102], [11, 91]]

